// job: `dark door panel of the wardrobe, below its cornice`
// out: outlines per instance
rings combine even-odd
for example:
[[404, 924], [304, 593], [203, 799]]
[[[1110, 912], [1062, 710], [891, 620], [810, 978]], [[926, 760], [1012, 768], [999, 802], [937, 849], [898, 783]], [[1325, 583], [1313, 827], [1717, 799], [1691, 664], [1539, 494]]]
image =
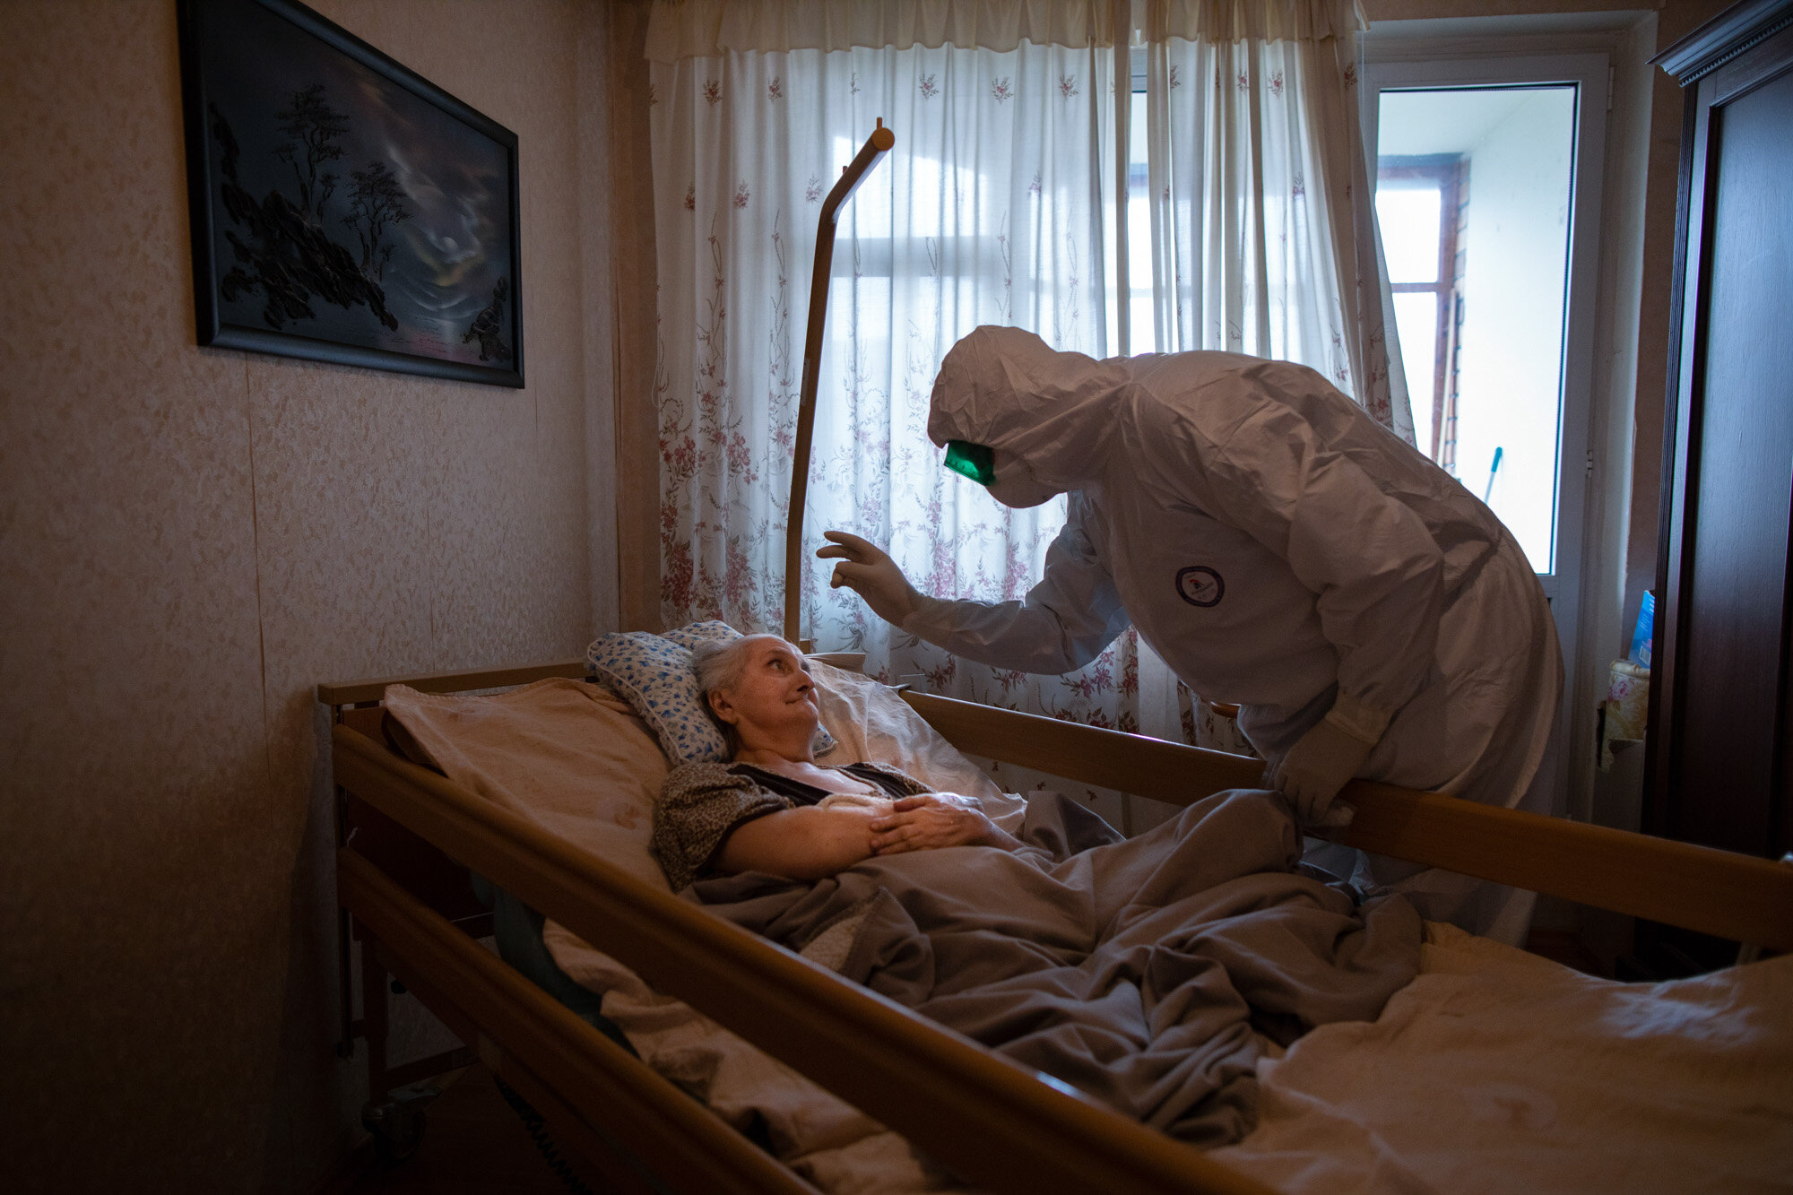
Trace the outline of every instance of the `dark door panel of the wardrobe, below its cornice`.
[[1682, 800], [1667, 833], [1777, 842], [1793, 499], [1793, 74], [1712, 109], [1698, 445], [1682, 657]]

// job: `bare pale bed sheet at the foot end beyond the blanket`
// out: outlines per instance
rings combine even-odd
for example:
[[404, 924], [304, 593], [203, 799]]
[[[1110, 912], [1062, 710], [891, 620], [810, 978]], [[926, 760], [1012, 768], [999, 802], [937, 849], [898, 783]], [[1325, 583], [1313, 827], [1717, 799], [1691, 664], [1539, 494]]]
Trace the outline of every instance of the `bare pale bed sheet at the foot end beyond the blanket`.
[[1214, 1157], [1284, 1191], [1788, 1191], [1793, 956], [1614, 983], [1427, 922], [1373, 1025], [1259, 1080]]

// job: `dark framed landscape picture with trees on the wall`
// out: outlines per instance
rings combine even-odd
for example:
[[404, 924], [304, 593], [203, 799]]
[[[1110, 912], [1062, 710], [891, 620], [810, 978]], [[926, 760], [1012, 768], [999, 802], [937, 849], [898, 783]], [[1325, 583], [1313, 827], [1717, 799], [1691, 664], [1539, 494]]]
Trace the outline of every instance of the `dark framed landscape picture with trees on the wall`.
[[524, 384], [516, 135], [294, 0], [183, 0], [199, 343]]

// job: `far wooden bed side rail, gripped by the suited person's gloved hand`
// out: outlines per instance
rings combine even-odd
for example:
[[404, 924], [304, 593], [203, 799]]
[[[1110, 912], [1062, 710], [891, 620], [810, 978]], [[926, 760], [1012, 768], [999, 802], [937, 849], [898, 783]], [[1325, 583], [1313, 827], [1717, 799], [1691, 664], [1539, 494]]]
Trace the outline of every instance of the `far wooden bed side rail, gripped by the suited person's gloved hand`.
[[[961, 752], [1067, 781], [1174, 806], [1262, 786], [1262, 764], [1241, 755], [922, 693], [904, 700]], [[1352, 781], [1339, 798], [1357, 816], [1327, 836], [1348, 847], [1793, 951], [1793, 867], [1393, 784]]]

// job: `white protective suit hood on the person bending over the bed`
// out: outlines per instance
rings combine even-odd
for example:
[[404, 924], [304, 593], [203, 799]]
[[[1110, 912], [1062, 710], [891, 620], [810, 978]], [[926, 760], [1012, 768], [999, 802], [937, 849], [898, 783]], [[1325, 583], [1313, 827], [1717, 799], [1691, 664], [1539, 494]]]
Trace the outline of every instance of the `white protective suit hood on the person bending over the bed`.
[[1101, 475], [1130, 380], [1121, 359], [1061, 353], [1033, 332], [983, 327], [940, 362], [927, 436], [938, 447], [990, 447], [992, 497], [1038, 506]]

